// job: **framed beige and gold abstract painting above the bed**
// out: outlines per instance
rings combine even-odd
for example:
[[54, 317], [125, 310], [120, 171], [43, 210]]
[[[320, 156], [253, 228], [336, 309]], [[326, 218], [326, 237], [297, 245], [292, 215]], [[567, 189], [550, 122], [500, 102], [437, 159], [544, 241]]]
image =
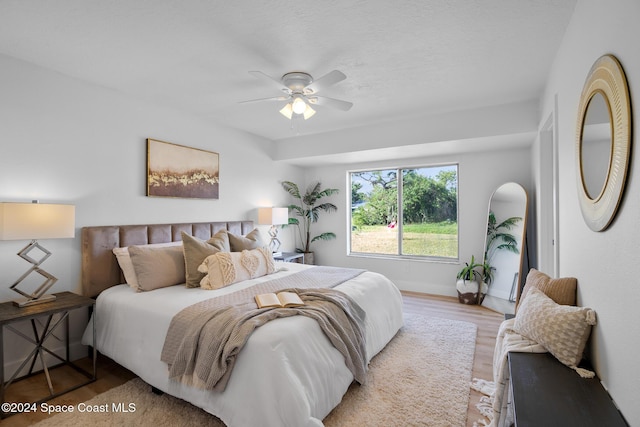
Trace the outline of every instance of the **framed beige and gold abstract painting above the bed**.
[[220, 155], [147, 138], [147, 196], [218, 199]]

